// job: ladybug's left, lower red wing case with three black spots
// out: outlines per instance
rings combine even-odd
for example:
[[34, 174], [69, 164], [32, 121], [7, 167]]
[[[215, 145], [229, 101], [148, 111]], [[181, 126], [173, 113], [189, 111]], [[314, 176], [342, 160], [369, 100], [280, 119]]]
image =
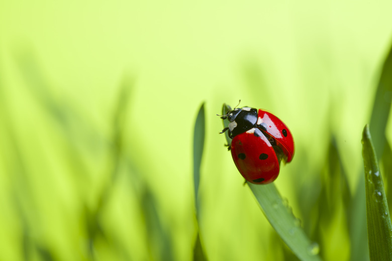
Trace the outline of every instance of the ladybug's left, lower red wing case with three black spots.
[[254, 184], [268, 184], [279, 174], [279, 162], [268, 139], [258, 128], [233, 138], [231, 155], [241, 175]]

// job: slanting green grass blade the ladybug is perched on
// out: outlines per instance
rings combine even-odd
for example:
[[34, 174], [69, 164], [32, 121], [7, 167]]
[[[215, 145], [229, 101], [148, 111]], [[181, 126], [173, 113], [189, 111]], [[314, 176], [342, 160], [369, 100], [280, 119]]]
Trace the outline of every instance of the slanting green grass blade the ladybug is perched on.
[[[227, 114], [228, 110], [230, 106], [223, 104], [222, 115]], [[228, 124], [228, 120], [224, 119], [224, 127]], [[226, 136], [226, 139], [230, 144], [230, 138]], [[287, 201], [282, 199], [275, 185], [256, 185], [249, 182], [248, 185], [265, 217], [291, 251], [301, 260], [321, 260], [318, 243], [308, 238], [301, 227], [301, 220], [293, 215]]]

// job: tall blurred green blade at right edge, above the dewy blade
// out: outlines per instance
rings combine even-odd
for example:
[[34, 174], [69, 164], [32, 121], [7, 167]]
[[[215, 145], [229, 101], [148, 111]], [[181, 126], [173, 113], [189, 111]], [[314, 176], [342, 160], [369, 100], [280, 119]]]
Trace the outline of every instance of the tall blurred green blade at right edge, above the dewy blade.
[[370, 133], [373, 135], [373, 145], [378, 157], [382, 157], [384, 144], [386, 142], [385, 128], [386, 123], [388, 122], [391, 101], [392, 46], [382, 67], [370, 118]]

